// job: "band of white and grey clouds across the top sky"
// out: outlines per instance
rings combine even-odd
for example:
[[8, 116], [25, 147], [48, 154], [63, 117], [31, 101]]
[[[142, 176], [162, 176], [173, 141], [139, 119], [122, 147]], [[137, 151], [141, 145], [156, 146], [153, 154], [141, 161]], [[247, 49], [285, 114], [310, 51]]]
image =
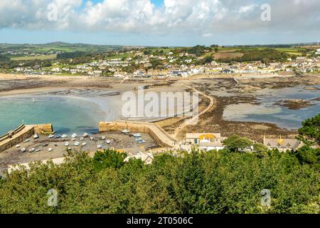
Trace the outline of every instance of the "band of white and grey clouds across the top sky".
[[[263, 28], [303, 31], [320, 29], [319, 0], [266, 0], [272, 21], [260, 20], [254, 0], [1, 0], [0, 28], [53, 28], [71, 31], [127, 33], [198, 33], [209, 37], [219, 31], [257, 32]], [[48, 21], [48, 4], [58, 9], [58, 21]], [[290, 10], [288, 10], [290, 9]], [[269, 27], [268, 27], [269, 26]]]

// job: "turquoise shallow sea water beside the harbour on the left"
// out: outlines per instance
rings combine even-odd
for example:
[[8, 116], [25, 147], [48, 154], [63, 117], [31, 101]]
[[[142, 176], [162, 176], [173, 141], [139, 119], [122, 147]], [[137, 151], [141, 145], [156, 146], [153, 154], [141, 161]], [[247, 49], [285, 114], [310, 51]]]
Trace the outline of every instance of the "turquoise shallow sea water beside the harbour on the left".
[[106, 120], [97, 105], [88, 100], [63, 97], [0, 98], [0, 135], [22, 123], [53, 123], [57, 133], [96, 133]]

